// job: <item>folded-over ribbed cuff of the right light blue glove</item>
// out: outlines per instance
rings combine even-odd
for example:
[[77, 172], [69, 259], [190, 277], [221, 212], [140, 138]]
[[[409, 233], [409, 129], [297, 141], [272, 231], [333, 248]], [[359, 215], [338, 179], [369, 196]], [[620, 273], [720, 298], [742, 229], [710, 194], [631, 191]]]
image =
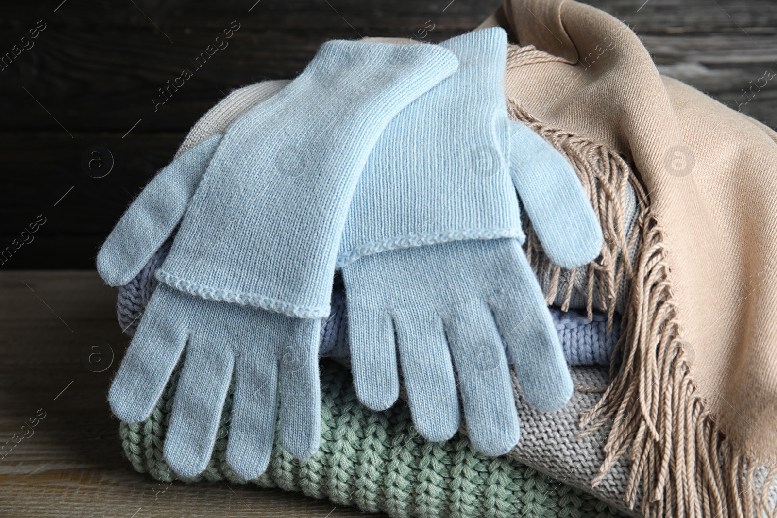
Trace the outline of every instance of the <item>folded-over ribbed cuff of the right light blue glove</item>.
[[505, 130], [507, 34], [479, 30], [440, 46], [455, 54], [458, 70], [395, 116], [376, 142], [351, 201], [338, 266], [411, 246], [524, 240]]

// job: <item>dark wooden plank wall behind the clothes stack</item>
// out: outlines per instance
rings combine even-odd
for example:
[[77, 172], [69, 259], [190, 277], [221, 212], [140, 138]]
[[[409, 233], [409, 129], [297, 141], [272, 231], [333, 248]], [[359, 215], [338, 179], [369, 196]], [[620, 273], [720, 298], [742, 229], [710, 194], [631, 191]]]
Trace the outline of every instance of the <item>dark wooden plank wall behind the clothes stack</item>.
[[[0, 259], [0, 268], [92, 268], [99, 243], [127, 203], [172, 158], [186, 130], [230, 89], [294, 77], [327, 39], [443, 40], [472, 29], [500, 4], [254, 2], [46, 0], [2, 6], [0, 57], [14, 45], [31, 48], [10, 64], [0, 63], [0, 251], [14, 239], [32, 241], [7, 261]], [[777, 127], [777, 77], [746, 104], [741, 91], [766, 70], [777, 72], [777, 2], [592, 3], [629, 23], [664, 73]], [[430, 23], [434, 30], [423, 33]], [[29, 31], [44, 24], [30, 40]], [[228, 46], [196, 69], [191, 61], [238, 24]], [[183, 68], [193, 77], [155, 106], [153, 99], [163, 100], [159, 89]], [[95, 146], [113, 157], [113, 169], [103, 178], [92, 176], [106, 170], [108, 158], [103, 169], [96, 167], [99, 160], [91, 169], [82, 165]], [[41, 214], [45, 223], [37, 232], [22, 235], [42, 221]]]

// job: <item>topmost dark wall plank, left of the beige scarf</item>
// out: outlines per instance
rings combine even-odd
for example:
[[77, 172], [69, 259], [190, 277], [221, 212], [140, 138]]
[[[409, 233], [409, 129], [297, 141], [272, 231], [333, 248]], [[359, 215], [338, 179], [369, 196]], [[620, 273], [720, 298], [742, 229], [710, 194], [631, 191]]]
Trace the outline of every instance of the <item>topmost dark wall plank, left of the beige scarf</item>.
[[[264, 0], [252, 12], [253, 2], [236, 0], [220, 2], [218, 9], [207, 2], [189, 2], [186, 9], [136, 3], [159, 29], [131, 2], [69, 2], [56, 16], [22, 7], [5, 12], [0, 26], [12, 30], [2, 33], [0, 49], [10, 50], [39, 16], [51, 21], [34, 47], [2, 71], [0, 130], [61, 130], [35, 99], [71, 132], [123, 132], [139, 119], [138, 131], [180, 130], [221, 92], [266, 78], [294, 77], [325, 40], [412, 37], [430, 19], [435, 24], [430, 39], [442, 40], [476, 26], [500, 2], [459, 0], [444, 12], [449, 1], [327, 5]], [[233, 20], [240, 29], [221, 43], [225, 48], [195, 63]], [[184, 68], [193, 78], [177, 92], [172, 89], [169, 102], [155, 110], [152, 99], [164, 99], [159, 89]]]

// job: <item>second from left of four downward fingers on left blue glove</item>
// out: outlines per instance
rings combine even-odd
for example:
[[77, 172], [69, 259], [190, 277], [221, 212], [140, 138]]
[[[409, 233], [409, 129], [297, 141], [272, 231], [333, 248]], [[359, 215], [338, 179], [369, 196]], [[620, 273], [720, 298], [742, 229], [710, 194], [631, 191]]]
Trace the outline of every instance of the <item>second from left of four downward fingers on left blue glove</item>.
[[232, 379], [232, 336], [218, 332], [214, 322], [209, 324], [207, 331], [190, 335], [165, 439], [165, 460], [173, 471], [187, 477], [207, 468]]

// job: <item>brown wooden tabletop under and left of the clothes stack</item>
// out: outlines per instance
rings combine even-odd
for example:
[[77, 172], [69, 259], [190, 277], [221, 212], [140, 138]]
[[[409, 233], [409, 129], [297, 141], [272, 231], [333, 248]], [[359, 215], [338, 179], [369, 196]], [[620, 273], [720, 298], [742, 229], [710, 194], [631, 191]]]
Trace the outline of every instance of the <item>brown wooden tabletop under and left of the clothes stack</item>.
[[[361, 515], [293, 493], [166, 486], [133, 471], [106, 401], [129, 340], [115, 297], [95, 272], [0, 273], [0, 516]], [[36, 415], [44, 418], [30, 427]]]

